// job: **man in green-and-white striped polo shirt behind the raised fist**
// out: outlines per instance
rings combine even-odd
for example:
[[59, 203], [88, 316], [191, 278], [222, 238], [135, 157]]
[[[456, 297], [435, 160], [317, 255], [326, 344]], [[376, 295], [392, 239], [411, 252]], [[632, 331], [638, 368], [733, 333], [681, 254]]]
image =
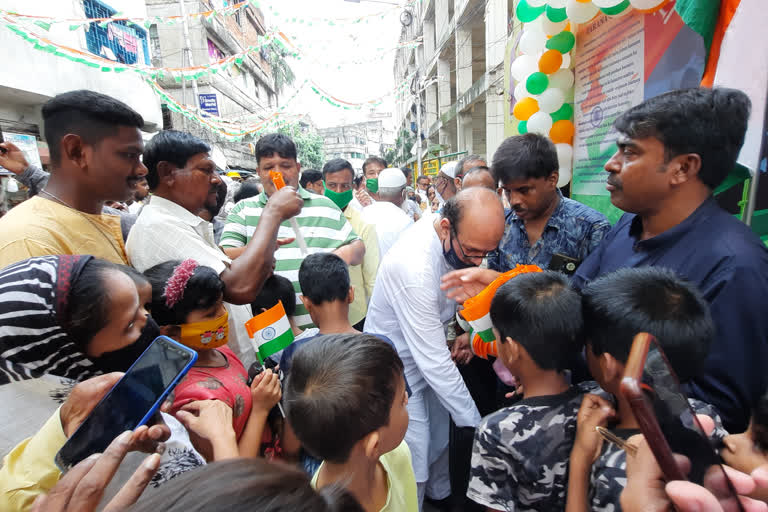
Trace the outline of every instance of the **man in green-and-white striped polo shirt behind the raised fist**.
[[[275, 192], [269, 173], [277, 171], [282, 174], [286, 186], [296, 188], [304, 200], [304, 206], [295, 219], [310, 254], [334, 252], [348, 265], [359, 265], [365, 255], [365, 245], [333, 201], [325, 196], [307, 192], [299, 186], [301, 166], [296, 156], [296, 145], [287, 135], [273, 133], [259, 139], [256, 143], [256, 162], [264, 192], [235, 205], [221, 235], [221, 247], [232, 259], [240, 255], [242, 248], [255, 233], [262, 214], [267, 214], [265, 211], [267, 199]], [[288, 221], [283, 222], [277, 237], [294, 238], [294, 236], [293, 228]], [[296, 290], [296, 324], [301, 328], [311, 327], [312, 319], [300, 299], [299, 267], [304, 261], [304, 256], [296, 241], [280, 246], [275, 251], [275, 260], [275, 273], [290, 279]]]

